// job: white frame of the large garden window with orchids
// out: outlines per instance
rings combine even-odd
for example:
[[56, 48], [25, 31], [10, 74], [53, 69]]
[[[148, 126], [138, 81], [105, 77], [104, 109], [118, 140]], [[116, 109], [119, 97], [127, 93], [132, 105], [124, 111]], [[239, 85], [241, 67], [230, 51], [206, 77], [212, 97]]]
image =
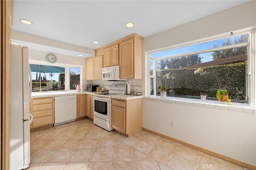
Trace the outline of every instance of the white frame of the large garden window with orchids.
[[[182, 54], [178, 54], [178, 55], [171, 55], [171, 56], [164, 56], [164, 57], [157, 57], [154, 58], [151, 53], [157, 53], [157, 52], [161, 52], [161, 51], [167, 51], [167, 50], [172, 50], [172, 49], [177, 49], [177, 48], [182, 48], [182, 47], [186, 47], [186, 46], [190, 46], [190, 45], [196, 45], [199, 43], [206, 43], [206, 42], [210, 42], [210, 41], [214, 41], [214, 40], [220, 40], [220, 39], [224, 39], [224, 38], [229, 38], [229, 35], [225, 35], [225, 34], [221, 34], [221, 35], [217, 35], [217, 36], [212, 36], [210, 38], [203, 38], [200, 40], [194, 40], [192, 42], [187, 42], [187, 43], [181, 43], [181, 44], [177, 44], [177, 45], [172, 45], [169, 47], [165, 47], [165, 48], [161, 48], [161, 49], [155, 49], [155, 50], [151, 50], [151, 51], [146, 51], [145, 52], [145, 57], [147, 57], [147, 59], [145, 59], [145, 61], [147, 61], [148, 63], [145, 63], [145, 73], [147, 74], [147, 76], [145, 76], [145, 83], [147, 83], [148, 87], [147, 89], [145, 88], [145, 97], [156, 97], [156, 77], [154, 78], [154, 95], [150, 94], [150, 78], [152, 78], [152, 76], [150, 76], [150, 58], [153, 59], [154, 61], [154, 73], [153, 75], [156, 75], [156, 64], [155, 62], [157, 60], [162, 60], [162, 59], [170, 59], [170, 58], [174, 58], [174, 57], [181, 57], [181, 56], [185, 56], [185, 55], [192, 55], [192, 54], [198, 54], [198, 53], [203, 53], [203, 52], [211, 52], [211, 51], [218, 51], [218, 50], [223, 50], [223, 49], [229, 49], [231, 47], [241, 47], [244, 46], [244, 44], [248, 44], [248, 70], [247, 73], [248, 74], [248, 79], [247, 79], [247, 89], [246, 89], [246, 93], [250, 93], [248, 94], [248, 105], [252, 108], [255, 108], [255, 95], [256, 95], [256, 91], [255, 91], [255, 73], [256, 73], [256, 63], [255, 63], [255, 57], [256, 57], [256, 52], [255, 52], [255, 40], [256, 40], [256, 30], [246, 30], [244, 29], [244, 31], [240, 31], [238, 34], [234, 34], [234, 36], [239, 36], [242, 34], [250, 34], [250, 40], [248, 41], [248, 43], [240, 43], [237, 45], [228, 45], [228, 46], [224, 46], [224, 47], [217, 47], [217, 48], [211, 48], [211, 49], [206, 49], [206, 50], [200, 50], [200, 51], [193, 51], [190, 53], [182, 53]], [[254, 56], [254, 57], [253, 57]], [[250, 89], [249, 89], [250, 88]], [[183, 99], [183, 98], [179, 98], [179, 97], [175, 97], [176, 99]]]

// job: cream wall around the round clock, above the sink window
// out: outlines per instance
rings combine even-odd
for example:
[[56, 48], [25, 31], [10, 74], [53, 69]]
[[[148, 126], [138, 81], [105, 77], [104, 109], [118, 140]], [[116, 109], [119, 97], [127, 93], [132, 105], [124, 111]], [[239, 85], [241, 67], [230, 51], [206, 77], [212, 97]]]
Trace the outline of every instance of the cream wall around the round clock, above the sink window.
[[[32, 60], [38, 60], [38, 61], [42, 61], [45, 62], [45, 56], [46, 54], [48, 54], [48, 52], [44, 52], [44, 51], [37, 51], [37, 50], [32, 50], [32, 49], [28, 49], [28, 57], [29, 59]], [[82, 65], [83, 66], [83, 74], [82, 74], [82, 79], [85, 80], [85, 59], [81, 58], [81, 57], [72, 57], [69, 55], [62, 55], [62, 54], [55, 54], [57, 57], [57, 62], [58, 63], [64, 63], [64, 64], [71, 64], [71, 65]]]

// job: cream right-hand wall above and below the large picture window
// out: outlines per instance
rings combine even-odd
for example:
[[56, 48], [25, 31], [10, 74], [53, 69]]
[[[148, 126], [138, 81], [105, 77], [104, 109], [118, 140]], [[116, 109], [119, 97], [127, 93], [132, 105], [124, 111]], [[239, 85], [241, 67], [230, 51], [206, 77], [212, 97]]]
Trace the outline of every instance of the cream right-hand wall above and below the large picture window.
[[[255, 26], [256, 1], [250, 1], [144, 38], [143, 50], [151, 51], [218, 34], [228, 35]], [[146, 83], [144, 87], [147, 87]], [[175, 128], [170, 127], [171, 120], [176, 122]], [[255, 113], [144, 99], [143, 127], [256, 166]]]

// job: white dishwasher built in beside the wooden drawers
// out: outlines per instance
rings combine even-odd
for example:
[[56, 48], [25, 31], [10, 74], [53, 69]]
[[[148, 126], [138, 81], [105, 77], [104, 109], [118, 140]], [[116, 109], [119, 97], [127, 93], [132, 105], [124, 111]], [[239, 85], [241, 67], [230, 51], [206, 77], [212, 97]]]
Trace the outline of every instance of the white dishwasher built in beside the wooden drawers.
[[75, 121], [76, 95], [55, 97], [54, 126]]

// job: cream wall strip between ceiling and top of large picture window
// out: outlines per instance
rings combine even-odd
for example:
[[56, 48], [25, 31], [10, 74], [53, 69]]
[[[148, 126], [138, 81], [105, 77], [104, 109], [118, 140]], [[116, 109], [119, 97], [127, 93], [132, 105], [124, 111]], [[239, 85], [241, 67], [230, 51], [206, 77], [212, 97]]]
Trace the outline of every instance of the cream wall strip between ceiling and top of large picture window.
[[[232, 3], [232, 1], [230, 2]], [[144, 38], [143, 50], [150, 51], [223, 33], [229, 35], [234, 30], [255, 27], [255, 3], [255, 1], [250, 1]]]

